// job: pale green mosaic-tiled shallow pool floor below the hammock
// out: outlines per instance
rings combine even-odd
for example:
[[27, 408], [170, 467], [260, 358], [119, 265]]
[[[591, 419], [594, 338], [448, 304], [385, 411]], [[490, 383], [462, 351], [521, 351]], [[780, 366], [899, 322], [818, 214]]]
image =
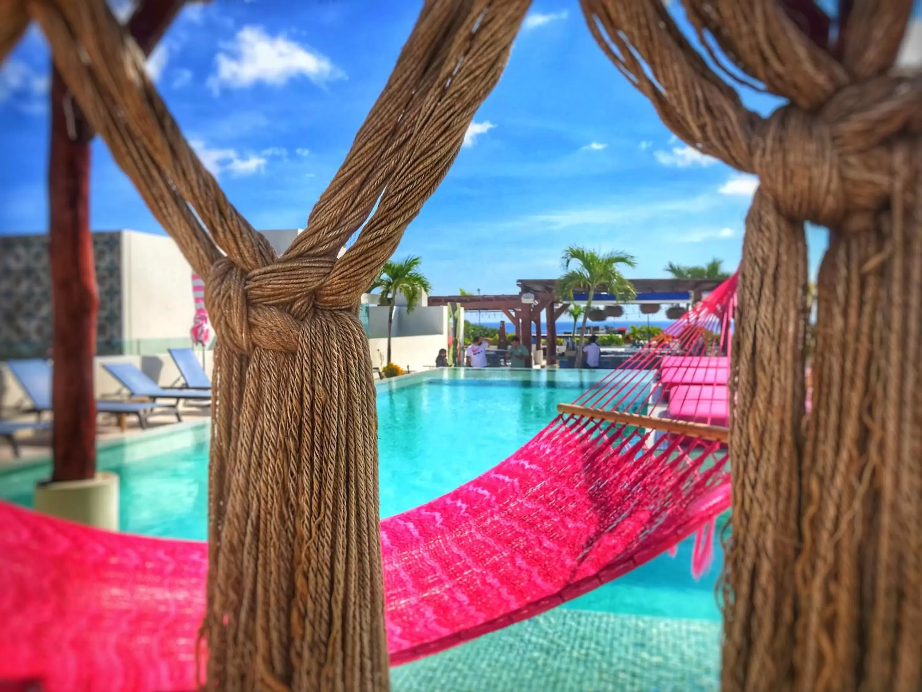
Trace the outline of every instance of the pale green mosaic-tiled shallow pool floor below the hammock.
[[720, 624], [558, 608], [391, 671], [392, 692], [716, 692]]

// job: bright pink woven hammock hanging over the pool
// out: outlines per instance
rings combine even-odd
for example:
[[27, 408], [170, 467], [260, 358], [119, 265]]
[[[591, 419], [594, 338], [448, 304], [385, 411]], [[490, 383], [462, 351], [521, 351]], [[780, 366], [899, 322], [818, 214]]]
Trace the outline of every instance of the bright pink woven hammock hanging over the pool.
[[[652, 377], [664, 356], [726, 357], [735, 289], [734, 277], [576, 403], [668, 416]], [[718, 339], [705, 343], [690, 325]], [[720, 443], [558, 416], [491, 471], [382, 521], [391, 661], [542, 613], [704, 528], [700, 573], [728, 505]], [[0, 503], [0, 682], [194, 689], [206, 576], [205, 543], [97, 531]]]

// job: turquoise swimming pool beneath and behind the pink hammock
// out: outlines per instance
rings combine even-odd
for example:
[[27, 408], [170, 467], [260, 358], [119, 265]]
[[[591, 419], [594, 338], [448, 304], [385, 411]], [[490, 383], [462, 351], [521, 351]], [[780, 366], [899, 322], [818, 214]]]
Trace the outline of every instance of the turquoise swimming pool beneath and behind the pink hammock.
[[[521, 447], [598, 378], [592, 371], [443, 370], [378, 386], [381, 511], [443, 495]], [[123, 531], [204, 540], [207, 425], [173, 425], [100, 448], [121, 476]], [[0, 475], [29, 506], [47, 465]], [[691, 579], [691, 542], [597, 591], [394, 669], [396, 692], [716, 688], [715, 566]]]

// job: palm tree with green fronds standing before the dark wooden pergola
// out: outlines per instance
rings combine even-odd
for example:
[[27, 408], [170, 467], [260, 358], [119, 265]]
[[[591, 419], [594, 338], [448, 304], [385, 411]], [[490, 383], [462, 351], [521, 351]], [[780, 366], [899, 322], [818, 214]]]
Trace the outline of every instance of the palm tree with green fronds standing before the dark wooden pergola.
[[[585, 291], [583, 326], [580, 328], [579, 344], [576, 346], [576, 367], [583, 364], [583, 343], [585, 341], [585, 320], [592, 307], [593, 295], [599, 289], [606, 289], [616, 300], [631, 300], [637, 292], [631, 281], [621, 274], [619, 265], [635, 267], [636, 261], [626, 252], [597, 253], [585, 247], [570, 245], [561, 257], [563, 276], [557, 281], [557, 292], [563, 299], [573, 300], [573, 292]], [[576, 265], [575, 268], [571, 268]]]

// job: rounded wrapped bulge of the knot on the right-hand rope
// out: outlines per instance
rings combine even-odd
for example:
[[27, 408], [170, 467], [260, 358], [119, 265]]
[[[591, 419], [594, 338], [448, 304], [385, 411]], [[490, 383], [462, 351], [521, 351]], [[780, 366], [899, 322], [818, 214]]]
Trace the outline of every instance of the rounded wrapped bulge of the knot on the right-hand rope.
[[833, 128], [816, 115], [787, 105], [762, 121], [752, 141], [752, 167], [789, 219], [834, 227], [845, 218]]

